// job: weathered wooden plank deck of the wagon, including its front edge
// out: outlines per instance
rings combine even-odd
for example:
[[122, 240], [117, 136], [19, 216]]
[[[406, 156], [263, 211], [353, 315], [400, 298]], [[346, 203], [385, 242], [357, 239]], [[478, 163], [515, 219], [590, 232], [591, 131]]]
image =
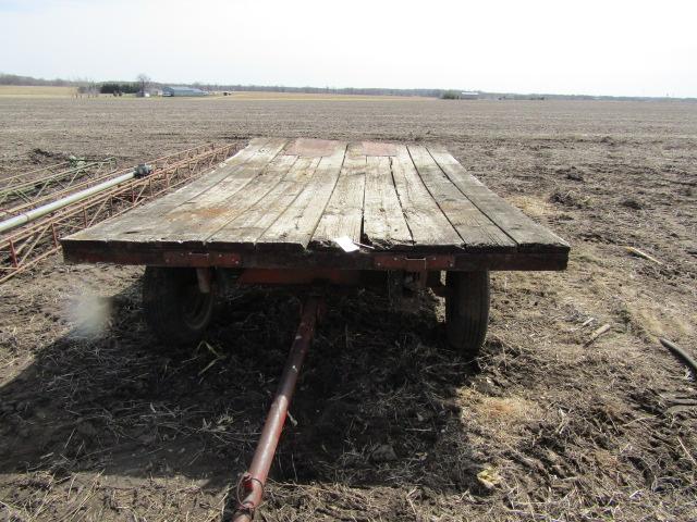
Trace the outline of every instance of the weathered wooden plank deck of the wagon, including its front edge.
[[[348, 236], [374, 249], [346, 253]], [[442, 147], [256, 138], [213, 172], [62, 241], [70, 262], [563, 270], [568, 245]]]

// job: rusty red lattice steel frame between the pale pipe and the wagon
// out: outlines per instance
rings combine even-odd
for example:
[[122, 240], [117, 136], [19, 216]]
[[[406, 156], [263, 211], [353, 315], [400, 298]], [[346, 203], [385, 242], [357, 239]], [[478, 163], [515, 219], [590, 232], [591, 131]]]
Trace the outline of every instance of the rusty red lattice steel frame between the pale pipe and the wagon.
[[0, 237], [0, 284], [60, 250], [65, 235], [126, 212], [208, 172], [231, 156], [234, 145], [206, 145], [148, 162], [151, 174], [133, 178]]

